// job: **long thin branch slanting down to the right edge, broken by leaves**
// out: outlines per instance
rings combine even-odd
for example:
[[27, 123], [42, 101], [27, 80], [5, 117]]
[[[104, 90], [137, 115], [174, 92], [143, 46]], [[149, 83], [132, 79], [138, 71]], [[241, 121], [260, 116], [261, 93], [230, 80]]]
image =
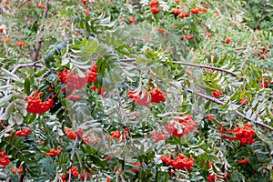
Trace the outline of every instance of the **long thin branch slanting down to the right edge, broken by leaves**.
[[[169, 83], [169, 85], [178, 88], [178, 86], [176, 86], [176, 85], [173, 84], [173, 83]], [[212, 101], [212, 102], [214, 102], [214, 103], [217, 103], [218, 105], [224, 105], [224, 104], [225, 104], [225, 102], [220, 101], [220, 100], [218, 100], [218, 99], [215, 98], [215, 97], [207, 96], [207, 95], [202, 94], [202, 93], [197, 93], [197, 92], [195, 92], [195, 91], [193, 91], [192, 89], [189, 89], [189, 88], [182, 88], [182, 89], [183, 89], [183, 90], [186, 90], [188, 93], [197, 94], [197, 96], [201, 96], [201, 97], [203, 97], [203, 98], [206, 98], [207, 100]], [[247, 121], [249, 121], [249, 122], [251, 122], [251, 123], [253, 123], [253, 124], [255, 124], [255, 125], [263, 126], [263, 127], [268, 128], [269, 130], [273, 131], [273, 127], [271, 127], [271, 126], [268, 126], [268, 125], [266, 125], [266, 124], [264, 124], [264, 123], [259, 123], [259, 122], [255, 121], [255, 120], [249, 118], [248, 116], [245, 116], [244, 114], [240, 113], [239, 111], [235, 111], [235, 113], [236, 113], [238, 116], [242, 117], [243, 119], [245, 119], [245, 120], [247, 120]]]

